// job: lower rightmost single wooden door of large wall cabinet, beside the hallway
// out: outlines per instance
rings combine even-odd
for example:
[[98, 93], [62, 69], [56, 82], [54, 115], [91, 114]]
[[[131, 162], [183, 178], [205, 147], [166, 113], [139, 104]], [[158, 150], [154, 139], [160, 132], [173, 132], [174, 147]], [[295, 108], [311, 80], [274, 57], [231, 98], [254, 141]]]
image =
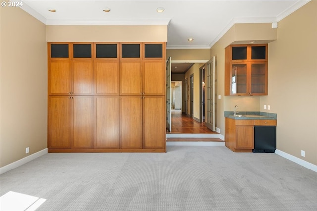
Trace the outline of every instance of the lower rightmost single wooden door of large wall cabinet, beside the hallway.
[[143, 99], [143, 148], [166, 148], [165, 96], [145, 96]]

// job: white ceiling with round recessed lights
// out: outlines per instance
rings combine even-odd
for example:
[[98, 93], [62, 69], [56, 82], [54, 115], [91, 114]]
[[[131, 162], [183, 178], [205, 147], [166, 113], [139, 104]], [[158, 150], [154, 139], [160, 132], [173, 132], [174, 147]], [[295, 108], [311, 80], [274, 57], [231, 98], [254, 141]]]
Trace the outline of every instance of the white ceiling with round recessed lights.
[[[235, 23], [273, 23], [309, 0], [22, 0], [46, 25], [167, 25], [167, 49], [209, 49]], [[163, 7], [164, 12], [157, 12]], [[103, 9], [109, 8], [110, 12]], [[55, 9], [56, 12], [50, 12]], [[193, 41], [188, 41], [193, 38]], [[179, 66], [179, 64], [177, 64]], [[178, 69], [179, 70], [179, 69]]]

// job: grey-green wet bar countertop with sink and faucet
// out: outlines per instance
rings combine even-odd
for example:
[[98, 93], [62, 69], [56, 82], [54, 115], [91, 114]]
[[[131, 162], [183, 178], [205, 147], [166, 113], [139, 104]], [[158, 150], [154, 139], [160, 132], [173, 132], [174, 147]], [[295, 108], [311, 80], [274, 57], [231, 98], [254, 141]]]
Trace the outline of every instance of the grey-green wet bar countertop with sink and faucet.
[[261, 111], [239, 111], [234, 115], [233, 111], [225, 111], [224, 116], [236, 120], [276, 120], [277, 114]]

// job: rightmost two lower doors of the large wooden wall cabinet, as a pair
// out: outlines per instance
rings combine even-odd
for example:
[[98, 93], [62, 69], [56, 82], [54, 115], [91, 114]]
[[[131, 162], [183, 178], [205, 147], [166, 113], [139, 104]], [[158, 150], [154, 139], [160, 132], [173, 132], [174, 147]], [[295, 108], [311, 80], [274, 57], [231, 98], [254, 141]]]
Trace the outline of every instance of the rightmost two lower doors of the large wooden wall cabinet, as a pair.
[[121, 97], [123, 149], [165, 149], [165, 96]]

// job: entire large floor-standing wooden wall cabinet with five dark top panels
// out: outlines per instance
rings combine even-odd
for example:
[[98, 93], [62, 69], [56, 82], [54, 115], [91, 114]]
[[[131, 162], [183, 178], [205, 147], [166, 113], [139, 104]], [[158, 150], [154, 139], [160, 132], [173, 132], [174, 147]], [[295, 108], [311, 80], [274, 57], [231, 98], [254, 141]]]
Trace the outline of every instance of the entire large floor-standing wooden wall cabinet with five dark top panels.
[[165, 152], [165, 42], [49, 42], [49, 152]]

